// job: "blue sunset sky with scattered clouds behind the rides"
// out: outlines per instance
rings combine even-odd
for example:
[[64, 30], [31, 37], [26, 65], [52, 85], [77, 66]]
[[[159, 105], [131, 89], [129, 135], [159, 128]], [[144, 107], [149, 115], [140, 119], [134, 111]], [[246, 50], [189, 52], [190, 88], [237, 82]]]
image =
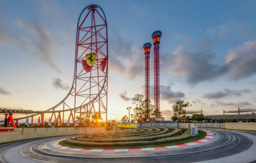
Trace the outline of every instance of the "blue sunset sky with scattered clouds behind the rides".
[[[142, 46], [152, 43], [156, 30], [162, 31], [165, 120], [180, 99], [192, 104], [187, 110], [202, 108], [204, 115], [256, 109], [256, 1], [155, 3], [0, 1], [0, 106], [46, 110], [64, 98], [73, 80], [78, 16], [85, 6], [98, 4], [108, 23], [108, 119], [128, 115], [134, 95], [144, 95]], [[153, 48], [150, 56], [154, 102]]]

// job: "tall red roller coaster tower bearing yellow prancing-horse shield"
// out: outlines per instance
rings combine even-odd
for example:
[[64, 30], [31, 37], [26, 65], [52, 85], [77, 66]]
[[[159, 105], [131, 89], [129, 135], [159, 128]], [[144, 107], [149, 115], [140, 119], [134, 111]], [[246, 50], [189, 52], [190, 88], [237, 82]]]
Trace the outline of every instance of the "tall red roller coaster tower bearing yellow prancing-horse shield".
[[[81, 19], [80, 19], [81, 18]], [[107, 21], [103, 10], [95, 4], [84, 8], [77, 24], [76, 72], [74, 80], [74, 110], [88, 119], [95, 115], [107, 120]]]

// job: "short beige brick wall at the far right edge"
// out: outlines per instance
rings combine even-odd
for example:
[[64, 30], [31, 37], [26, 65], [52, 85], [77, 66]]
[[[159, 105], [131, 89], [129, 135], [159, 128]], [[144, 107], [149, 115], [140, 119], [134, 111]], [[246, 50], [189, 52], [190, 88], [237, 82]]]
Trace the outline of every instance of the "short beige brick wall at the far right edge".
[[226, 129], [256, 131], [256, 122], [226, 122]]

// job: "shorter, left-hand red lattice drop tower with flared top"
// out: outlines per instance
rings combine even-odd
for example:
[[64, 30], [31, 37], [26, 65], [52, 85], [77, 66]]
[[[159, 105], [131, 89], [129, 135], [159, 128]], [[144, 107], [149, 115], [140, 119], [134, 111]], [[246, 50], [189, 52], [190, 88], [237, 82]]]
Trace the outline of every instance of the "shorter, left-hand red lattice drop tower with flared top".
[[[145, 54], [145, 99], [149, 100], [149, 55], [151, 49], [151, 43], [145, 43], [143, 45], [144, 54]], [[147, 102], [147, 108], [149, 105], [149, 101]], [[147, 116], [149, 117], [149, 116]]]

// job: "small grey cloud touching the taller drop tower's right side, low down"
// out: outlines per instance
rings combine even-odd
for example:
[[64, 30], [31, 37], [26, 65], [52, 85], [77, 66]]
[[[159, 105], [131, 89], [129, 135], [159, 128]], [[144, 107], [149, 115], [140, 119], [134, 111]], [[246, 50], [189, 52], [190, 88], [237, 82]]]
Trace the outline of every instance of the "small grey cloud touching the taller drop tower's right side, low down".
[[[154, 89], [153, 89], [154, 90]], [[169, 103], [176, 102], [177, 100], [184, 98], [185, 93], [180, 91], [173, 91], [171, 86], [160, 85], [160, 100], [168, 101]]]

